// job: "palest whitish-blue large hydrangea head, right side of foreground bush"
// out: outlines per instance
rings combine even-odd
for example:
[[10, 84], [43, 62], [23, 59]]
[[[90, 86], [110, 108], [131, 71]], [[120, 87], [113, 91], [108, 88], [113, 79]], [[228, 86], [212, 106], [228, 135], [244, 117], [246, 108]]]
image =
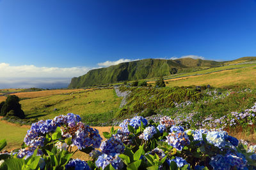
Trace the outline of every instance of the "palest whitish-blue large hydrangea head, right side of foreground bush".
[[225, 147], [227, 141], [226, 139], [228, 138], [228, 134], [225, 131], [212, 131], [208, 132], [206, 139], [209, 143], [211, 143], [214, 146], [217, 146], [218, 148], [223, 148]]

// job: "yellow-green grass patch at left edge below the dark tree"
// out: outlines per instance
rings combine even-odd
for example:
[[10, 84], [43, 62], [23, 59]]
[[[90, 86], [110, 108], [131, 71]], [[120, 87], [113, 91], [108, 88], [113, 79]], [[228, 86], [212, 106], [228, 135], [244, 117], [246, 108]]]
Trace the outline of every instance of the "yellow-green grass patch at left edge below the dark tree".
[[19, 147], [29, 129], [4, 122], [0, 122], [0, 128], [0, 139], [6, 139], [7, 142], [6, 150]]

